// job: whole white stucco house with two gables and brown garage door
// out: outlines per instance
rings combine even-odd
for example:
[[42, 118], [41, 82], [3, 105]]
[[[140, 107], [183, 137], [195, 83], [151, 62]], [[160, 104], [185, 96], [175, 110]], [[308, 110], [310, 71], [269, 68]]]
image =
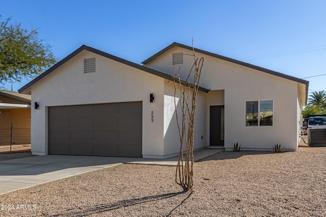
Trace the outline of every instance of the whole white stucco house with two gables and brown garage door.
[[[308, 81], [204, 50], [194, 148], [296, 150]], [[173, 43], [143, 65], [81, 46], [19, 89], [32, 95], [33, 154], [165, 159], [178, 154], [173, 70], [193, 48]]]

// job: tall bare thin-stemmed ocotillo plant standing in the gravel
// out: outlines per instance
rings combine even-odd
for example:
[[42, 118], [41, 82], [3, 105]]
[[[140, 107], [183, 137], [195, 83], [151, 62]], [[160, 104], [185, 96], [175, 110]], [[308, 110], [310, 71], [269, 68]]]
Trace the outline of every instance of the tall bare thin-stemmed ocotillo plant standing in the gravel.
[[[190, 54], [184, 54], [190, 55]], [[175, 68], [173, 68], [173, 82], [174, 82], [174, 106], [176, 110], [176, 119], [179, 130], [180, 138], [180, 151], [179, 151], [179, 161], [177, 164], [175, 181], [179, 184], [184, 191], [189, 191], [193, 188], [193, 165], [194, 165], [194, 122], [195, 122], [195, 111], [197, 104], [197, 93], [200, 85], [200, 76], [203, 68], [204, 58], [198, 58], [195, 54], [194, 44], [193, 44], [193, 55], [194, 63], [189, 70], [184, 81], [181, 80], [180, 68], [178, 73], [175, 73]], [[194, 74], [193, 74], [194, 73]], [[193, 83], [190, 82], [191, 76], [194, 76]], [[180, 103], [180, 110], [182, 113], [182, 119], [178, 113], [178, 102], [176, 101], [177, 85], [180, 89], [180, 98], [178, 102]], [[181, 122], [181, 126], [180, 126]], [[183, 145], [186, 147], [185, 159], [183, 157]], [[183, 163], [183, 160], [185, 162]]]

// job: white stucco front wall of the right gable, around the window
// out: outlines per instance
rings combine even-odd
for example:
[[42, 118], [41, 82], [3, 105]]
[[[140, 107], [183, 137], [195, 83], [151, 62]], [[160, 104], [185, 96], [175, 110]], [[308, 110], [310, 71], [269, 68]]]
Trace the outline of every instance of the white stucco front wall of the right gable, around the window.
[[[172, 74], [172, 53], [177, 52], [192, 54], [190, 50], [173, 47], [145, 66]], [[284, 146], [285, 150], [297, 148], [299, 111], [296, 82], [212, 56], [201, 53], [197, 55], [199, 58], [204, 56], [201, 86], [211, 90], [224, 90], [227, 149], [231, 149], [236, 142], [242, 144], [242, 148], [248, 149], [270, 150], [277, 143]], [[184, 55], [183, 64], [176, 67], [181, 66], [180, 73], [186, 75], [192, 63], [193, 57]], [[246, 127], [246, 101], [253, 100], [273, 100], [273, 127]], [[209, 124], [208, 118], [209, 115], [206, 118]], [[207, 145], [208, 142], [207, 140]]]

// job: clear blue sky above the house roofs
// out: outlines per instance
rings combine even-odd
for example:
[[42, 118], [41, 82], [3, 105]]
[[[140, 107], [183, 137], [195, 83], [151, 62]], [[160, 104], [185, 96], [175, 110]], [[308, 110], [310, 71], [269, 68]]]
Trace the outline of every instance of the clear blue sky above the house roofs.
[[[191, 46], [193, 37], [196, 48], [297, 78], [326, 74], [323, 0], [1, 0], [0, 5], [2, 19], [33, 24], [59, 59], [85, 44], [141, 64], [173, 42]], [[30, 80], [14, 84], [14, 90]], [[306, 80], [309, 92], [326, 90], [326, 75]]]

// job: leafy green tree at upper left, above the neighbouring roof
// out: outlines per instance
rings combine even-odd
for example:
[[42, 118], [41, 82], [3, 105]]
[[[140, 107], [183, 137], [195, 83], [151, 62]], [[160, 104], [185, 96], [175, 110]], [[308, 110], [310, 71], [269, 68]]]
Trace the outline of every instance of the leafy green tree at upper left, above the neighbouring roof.
[[57, 62], [51, 46], [38, 38], [36, 29], [1, 18], [0, 15], [0, 84], [33, 78]]

